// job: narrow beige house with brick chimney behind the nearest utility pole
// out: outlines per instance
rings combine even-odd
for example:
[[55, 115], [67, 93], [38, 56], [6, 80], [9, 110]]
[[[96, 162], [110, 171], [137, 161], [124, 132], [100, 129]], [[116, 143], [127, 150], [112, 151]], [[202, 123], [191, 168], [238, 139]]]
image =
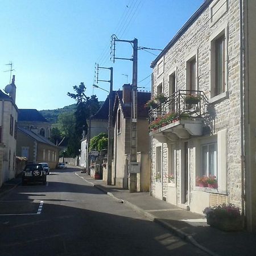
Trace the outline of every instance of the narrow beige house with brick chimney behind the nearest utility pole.
[[[137, 174], [137, 191], [146, 192], [150, 187], [150, 159], [148, 137], [148, 109], [144, 107], [150, 100], [150, 93], [138, 92], [137, 120], [137, 162], [141, 164]], [[131, 85], [123, 85], [114, 100], [114, 151], [112, 161], [112, 184], [129, 188], [129, 155], [131, 134]]]

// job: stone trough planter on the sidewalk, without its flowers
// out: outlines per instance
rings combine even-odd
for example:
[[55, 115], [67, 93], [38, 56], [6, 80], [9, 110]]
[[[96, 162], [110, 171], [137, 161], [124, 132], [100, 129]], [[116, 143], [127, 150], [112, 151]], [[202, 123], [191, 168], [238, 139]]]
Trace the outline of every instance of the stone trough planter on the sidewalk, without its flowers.
[[214, 213], [208, 213], [207, 224], [213, 228], [224, 231], [237, 231], [243, 229], [242, 216], [216, 216]]

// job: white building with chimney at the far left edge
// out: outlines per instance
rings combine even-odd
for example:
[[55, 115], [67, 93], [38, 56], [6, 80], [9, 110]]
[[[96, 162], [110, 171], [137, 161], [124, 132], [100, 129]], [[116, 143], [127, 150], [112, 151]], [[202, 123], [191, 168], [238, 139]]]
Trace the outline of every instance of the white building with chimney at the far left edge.
[[0, 90], [0, 187], [15, 176], [16, 123], [18, 108], [15, 104], [15, 76], [11, 84]]

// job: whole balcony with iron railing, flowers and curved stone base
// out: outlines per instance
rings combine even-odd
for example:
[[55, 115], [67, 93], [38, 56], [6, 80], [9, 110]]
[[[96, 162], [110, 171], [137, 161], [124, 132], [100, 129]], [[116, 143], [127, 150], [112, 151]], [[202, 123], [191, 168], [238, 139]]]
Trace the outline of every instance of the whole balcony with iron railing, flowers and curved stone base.
[[152, 104], [149, 111], [150, 136], [161, 143], [203, 135], [203, 116], [208, 100], [199, 90], [178, 90]]

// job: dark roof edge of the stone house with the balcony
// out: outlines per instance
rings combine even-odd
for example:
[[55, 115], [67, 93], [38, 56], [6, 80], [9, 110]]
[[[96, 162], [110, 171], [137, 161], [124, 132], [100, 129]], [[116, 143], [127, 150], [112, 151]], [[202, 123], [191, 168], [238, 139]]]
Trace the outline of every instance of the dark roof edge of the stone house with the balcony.
[[197, 11], [189, 18], [189, 20], [184, 24], [183, 27], [177, 32], [177, 34], [172, 38], [170, 43], [164, 47], [163, 51], [156, 57], [155, 60], [152, 61], [150, 67], [154, 68], [156, 63], [167, 53], [167, 51], [179, 40], [179, 38], [184, 34], [185, 31], [195, 22], [195, 20], [203, 13], [205, 9], [210, 5], [213, 0], [205, 0], [205, 2], [197, 9]]

